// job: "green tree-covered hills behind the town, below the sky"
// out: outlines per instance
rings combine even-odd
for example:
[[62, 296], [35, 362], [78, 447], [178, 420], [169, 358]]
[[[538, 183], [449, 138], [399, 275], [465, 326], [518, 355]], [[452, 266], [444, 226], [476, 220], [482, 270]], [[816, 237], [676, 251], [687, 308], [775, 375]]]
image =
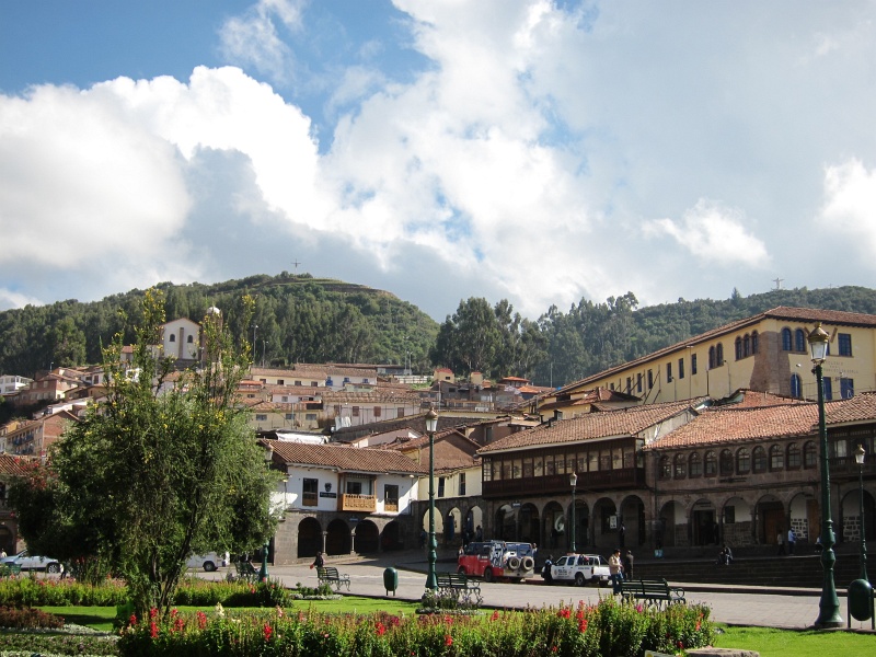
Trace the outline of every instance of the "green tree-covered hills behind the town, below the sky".
[[[491, 306], [470, 298], [439, 326], [389, 292], [308, 274], [157, 287], [166, 296], [168, 320], [200, 321], [216, 306], [232, 334], [249, 341], [254, 326], [238, 325], [239, 309], [244, 295], [254, 296], [260, 365], [404, 364], [410, 358], [416, 372], [442, 365], [462, 376], [481, 371], [553, 387], [777, 306], [876, 314], [876, 290], [848, 286], [749, 297], [734, 290], [726, 300], [679, 299], [645, 308], [626, 292], [604, 302], [581, 299], [565, 312], [554, 306], [537, 320], [521, 318], [507, 300]], [[127, 330], [119, 311], [136, 319], [142, 295], [131, 290], [91, 303], [59, 301], [0, 312], [0, 373], [32, 376], [50, 364], [99, 362], [101, 345]]]

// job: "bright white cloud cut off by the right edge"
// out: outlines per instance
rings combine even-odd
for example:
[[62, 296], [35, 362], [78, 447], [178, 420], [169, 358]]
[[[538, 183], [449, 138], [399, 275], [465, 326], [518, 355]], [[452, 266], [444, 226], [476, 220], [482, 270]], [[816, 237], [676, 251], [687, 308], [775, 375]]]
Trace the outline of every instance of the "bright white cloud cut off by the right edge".
[[876, 267], [876, 171], [857, 159], [827, 166], [825, 196], [815, 224], [826, 232], [841, 227], [843, 243], [861, 254], [864, 265]]

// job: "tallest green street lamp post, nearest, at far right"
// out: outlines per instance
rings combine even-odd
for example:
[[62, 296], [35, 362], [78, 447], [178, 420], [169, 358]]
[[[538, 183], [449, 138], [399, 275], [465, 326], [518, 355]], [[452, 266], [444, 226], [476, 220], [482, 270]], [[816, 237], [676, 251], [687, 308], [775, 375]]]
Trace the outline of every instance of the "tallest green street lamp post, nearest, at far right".
[[828, 461], [828, 430], [825, 420], [825, 382], [821, 371], [821, 366], [827, 359], [830, 336], [821, 328], [821, 322], [818, 322], [807, 339], [812, 365], [815, 365], [812, 371], [818, 384], [818, 441], [821, 448], [821, 568], [825, 570], [825, 580], [821, 585], [821, 599], [818, 603], [819, 612], [815, 625], [816, 627], [840, 627], [843, 621], [840, 615], [837, 586], [833, 583], [833, 565], [837, 563], [837, 555], [833, 553], [835, 538], [833, 520], [830, 516], [830, 463]]

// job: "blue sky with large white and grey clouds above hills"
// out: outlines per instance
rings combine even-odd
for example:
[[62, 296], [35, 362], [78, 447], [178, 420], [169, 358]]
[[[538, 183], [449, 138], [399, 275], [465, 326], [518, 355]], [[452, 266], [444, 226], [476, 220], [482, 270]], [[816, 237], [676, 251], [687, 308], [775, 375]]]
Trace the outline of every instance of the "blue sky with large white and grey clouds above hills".
[[0, 310], [876, 287], [876, 0], [4, 0]]

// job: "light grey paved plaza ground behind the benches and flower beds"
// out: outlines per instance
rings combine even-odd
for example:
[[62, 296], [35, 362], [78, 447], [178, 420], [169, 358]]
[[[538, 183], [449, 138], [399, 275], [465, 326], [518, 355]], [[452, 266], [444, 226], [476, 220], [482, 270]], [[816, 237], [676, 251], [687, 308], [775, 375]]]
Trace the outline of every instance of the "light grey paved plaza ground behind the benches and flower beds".
[[[335, 558], [330, 557], [328, 566], [336, 566], [343, 574], [349, 575], [350, 593], [371, 598], [387, 598], [383, 588], [383, 570], [394, 566], [399, 572], [399, 589], [395, 598], [400, 600], [419, 600], [425, 590], [427, 564], [422, 561], [422, 555], [416, 553], [396, 553], [395, 555], [381, 555], [379, 558]], [[257, 564], [256, 564], [257, 565]], [[454, 569], [450, 562], [439, 562], [438, 572]], [[214, 574], [201, 573], [208, 578], [224, 577], [228, 569], [222, 568]], [[233, 568], [231, 568], [233, 573]], [[295, 587], [316, 586], [316, 570], [310, 569], [308, 564], [289, 566], [269, 566], [268, 575], [280, 579], [285, 586]], [[749, 587], [745, 592], [727, 592], [719, 585], [685, 585], [688, 602], [701, 602], [712, 609], [713, 620], [733, 625], [757, 625], [765, 627], [783, 627], [804, 630], [810, 627], [818, 618], [818, 590], [788, 590]], [[737, 589], [738, 590], [738, 587]], [[346, 589], [343, 590], [346, 592]], [[546, 586], [541, 577], [537, 576], [527, 583], [481, 583], [481, 593], [484, 607], [496, 609], [525, 609], [527, 607], [577, 604], [579, 600], [597, 602], [600, 596], [611, 595], [610, 588], [595, 586]], [[840, 613], [843, 621], [846, 619], [844, 589], [839, 589]], [[393, 595], [389, 593], [392, 599]], [[843, 625], [844, 626], [844, 625]], [[871, 622], [852, 620], [853, 629], [869, 630]]]

